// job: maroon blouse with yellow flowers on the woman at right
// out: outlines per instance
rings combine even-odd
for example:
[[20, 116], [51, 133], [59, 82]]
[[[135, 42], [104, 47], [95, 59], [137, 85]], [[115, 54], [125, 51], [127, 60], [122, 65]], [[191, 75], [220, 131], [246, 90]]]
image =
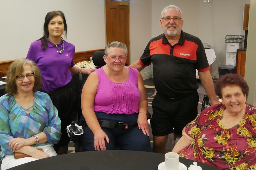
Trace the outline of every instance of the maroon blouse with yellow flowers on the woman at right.
[[180, 157], [224, 170], [256, 169], [256, 108], [246, 103], [241, 122], [230, 129], [222, 124], [224, 109], [213, 105], [186, 125], [185, 132], [195, 140]]

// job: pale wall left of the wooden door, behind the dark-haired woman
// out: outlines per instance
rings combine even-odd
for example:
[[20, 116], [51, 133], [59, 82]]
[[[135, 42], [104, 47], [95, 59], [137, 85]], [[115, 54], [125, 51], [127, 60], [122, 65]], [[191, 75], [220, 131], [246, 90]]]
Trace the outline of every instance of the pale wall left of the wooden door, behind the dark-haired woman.
[[47, 12], [61, 10], [67, 41], [75, 51], [105, 47], [104, 0], [1, 0], [0, 61], [25, 58], [30, 44], [43, 35]]

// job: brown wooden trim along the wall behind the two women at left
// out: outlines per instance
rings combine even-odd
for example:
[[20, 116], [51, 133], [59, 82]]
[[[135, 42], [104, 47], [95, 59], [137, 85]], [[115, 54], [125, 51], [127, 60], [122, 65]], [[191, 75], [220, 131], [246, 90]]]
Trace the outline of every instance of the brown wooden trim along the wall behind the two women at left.
[[[89, 51], [80, 51], [75, 52], [74, 55], [74, 62], [78, 63], [81, 61], [90, 61], [90, 57], [94, 53], [94, 51], [104, 51], [105, 49], [97, 49], [97, 50], [89, 50]], [[15, 60], [8, 60], [8, 61], [0, 61], [0, 77], [6, 76], [7, 70], [12, 62]]]

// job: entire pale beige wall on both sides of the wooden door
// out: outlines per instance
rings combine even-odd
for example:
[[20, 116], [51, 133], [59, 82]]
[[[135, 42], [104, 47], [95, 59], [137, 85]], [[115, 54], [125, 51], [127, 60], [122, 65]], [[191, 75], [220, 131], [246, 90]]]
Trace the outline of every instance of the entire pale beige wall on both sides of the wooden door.
[[[242, 34], [243, 4], [250, 0], [132, 0], [130, 1], [131, 63], [138, 60], [148, 41], [161, 34], [160, 13], [170, 4], [183, 11], [183, 30], [198, 36], [215, 50], [217, 61], [212, 75], [218, 77], [218, 64], [225, 64], [225, 36]], [[24, 58], [30, 43], [42, 36], [47, 12], [61, 10], [67, 24], [67, 41], [75, 51], [105, 47], [105, 0], [1, 0], [0, 5], [0, 61]], [[149, 78], [151, 67], [141, 71]]]

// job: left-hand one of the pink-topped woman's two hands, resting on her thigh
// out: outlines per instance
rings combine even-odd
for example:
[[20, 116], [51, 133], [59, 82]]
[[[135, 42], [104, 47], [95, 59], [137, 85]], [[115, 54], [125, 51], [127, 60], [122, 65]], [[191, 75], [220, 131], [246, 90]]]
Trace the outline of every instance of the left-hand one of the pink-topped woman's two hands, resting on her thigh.
[[109, 143], [108, 135], [106, 135], [106, 133], [102, 129], [95, 132], [94, 134], [95, 150], [106, 150], [105, 139], [106, 139], [106, 142]]

